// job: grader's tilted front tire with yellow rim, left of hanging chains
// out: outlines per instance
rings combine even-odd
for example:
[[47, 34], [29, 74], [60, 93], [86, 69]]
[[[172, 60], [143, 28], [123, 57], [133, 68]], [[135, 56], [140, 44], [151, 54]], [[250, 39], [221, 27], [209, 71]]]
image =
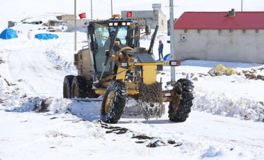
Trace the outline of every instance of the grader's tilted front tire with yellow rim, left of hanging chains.
[[107, 123], [117, 123], [126, 106], [127, 87], [122, 81], [113, 81], [106, 89], [101, 104], [101, 120]]

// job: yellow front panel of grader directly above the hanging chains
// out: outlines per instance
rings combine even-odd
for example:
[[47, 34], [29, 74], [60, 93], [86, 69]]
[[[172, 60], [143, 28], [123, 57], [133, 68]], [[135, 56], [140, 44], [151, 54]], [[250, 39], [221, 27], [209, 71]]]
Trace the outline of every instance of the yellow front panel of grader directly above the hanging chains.
[[142, 66], [143, 72], [143, 83], [145, 84], [152, 84], [156, 82], [157, 71], [156, 65], [143, 65]]

